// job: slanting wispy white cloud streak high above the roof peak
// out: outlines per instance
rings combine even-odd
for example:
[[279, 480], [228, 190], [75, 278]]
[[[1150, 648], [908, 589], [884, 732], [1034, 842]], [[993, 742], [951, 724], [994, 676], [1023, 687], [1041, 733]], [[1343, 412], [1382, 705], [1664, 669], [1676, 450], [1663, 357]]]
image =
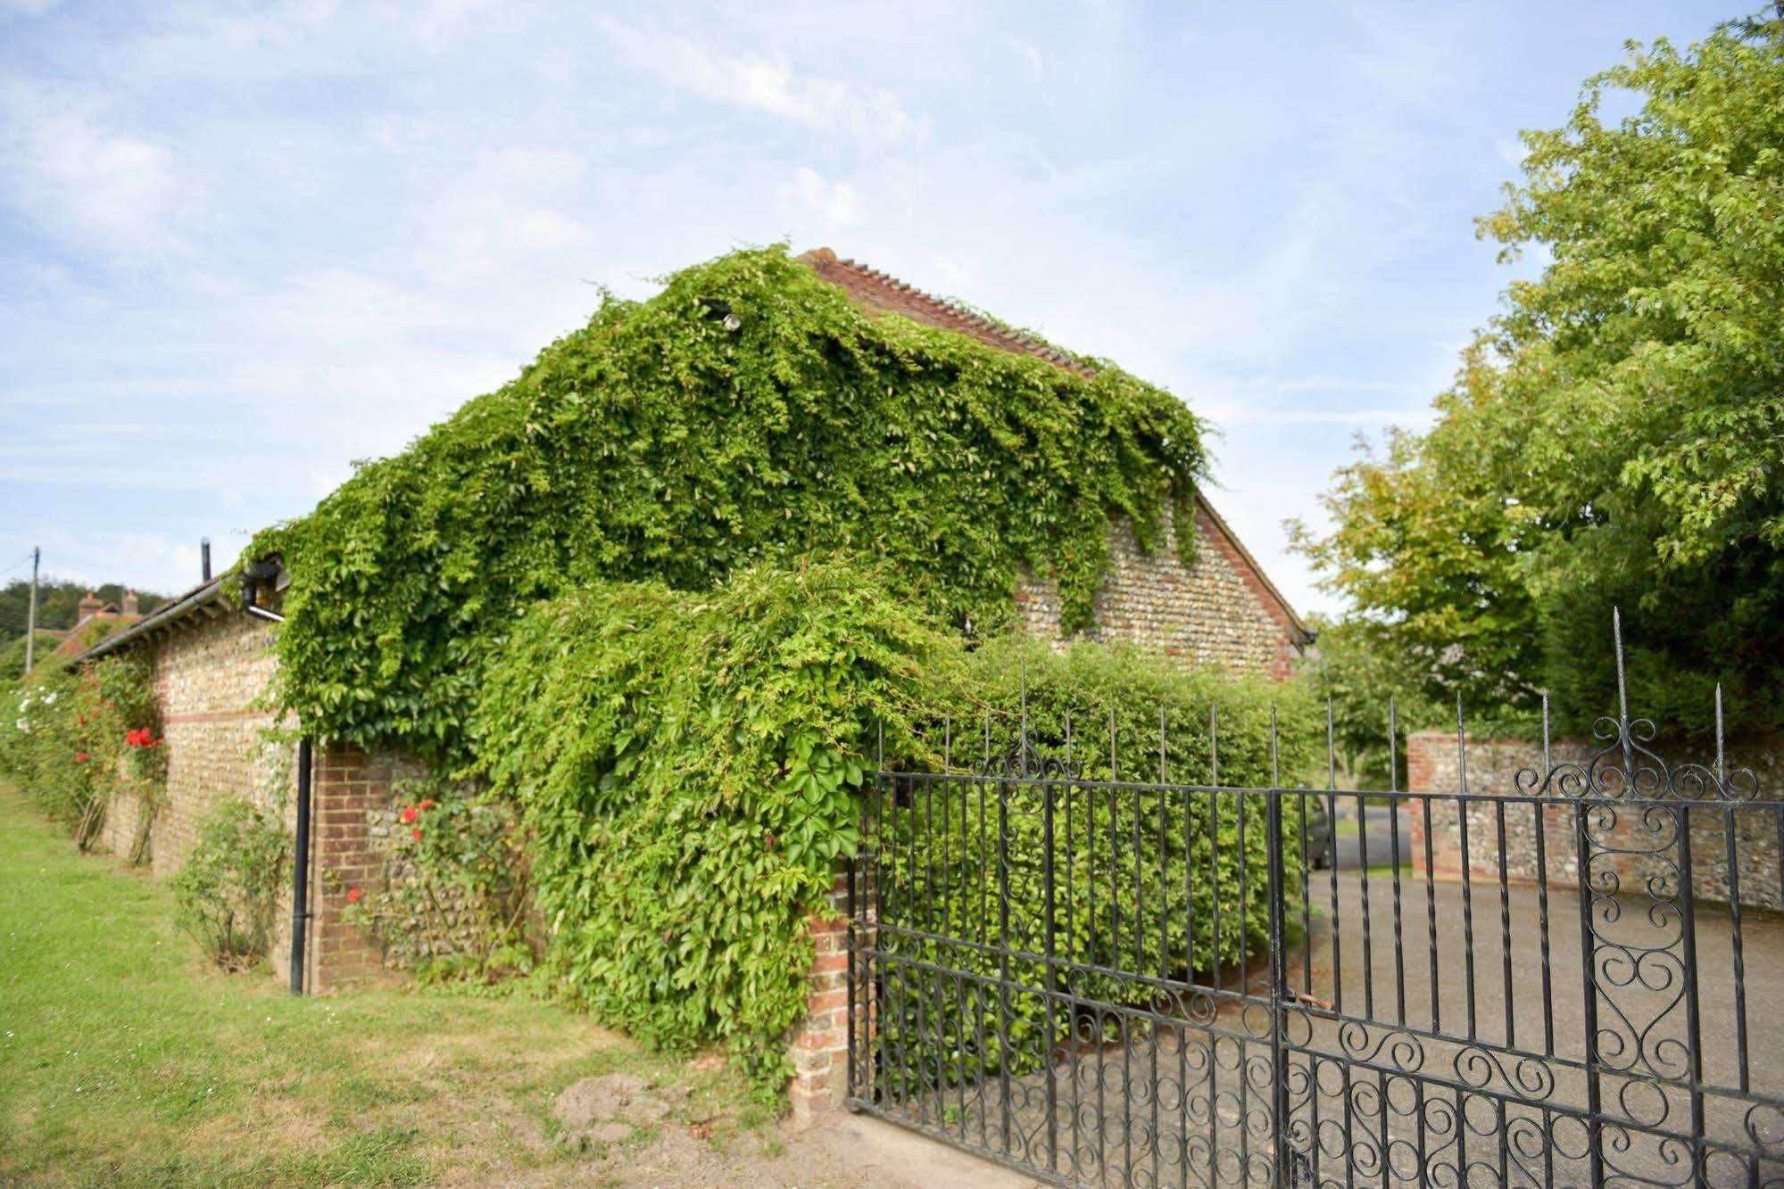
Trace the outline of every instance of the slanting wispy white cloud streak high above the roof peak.
[[794, 73], [783, 61], [758, 53], [721, 53], [685, 37], [646, 32], [624, 21], [596, 20], [635, 66], [719, 103], [781, 119], [844, 132], [887, 144], [921, 143], [924, 123], [904, 112], [883, 87], [856, 87], [835, 78]]

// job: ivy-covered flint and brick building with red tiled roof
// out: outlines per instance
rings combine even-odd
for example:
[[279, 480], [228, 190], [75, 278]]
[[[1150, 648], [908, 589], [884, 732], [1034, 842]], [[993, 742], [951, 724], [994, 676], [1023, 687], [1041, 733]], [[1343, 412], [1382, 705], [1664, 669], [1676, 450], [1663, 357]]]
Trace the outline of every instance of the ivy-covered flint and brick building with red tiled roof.
[[[608, 301], [516, 381], [269, 529], [89, 649], [153, 658], [166, 797], [114, 849], [178, 870], [223, 799], [294, 825], [318, 740], [300, 980], [376, 977], [350, 890], [385, 877], [396, 784], [464, 763], [478, 663], [516, 615], [596, 581], [703, 588], [817, 551], [878, 554], [967, 635], [1122, 640], [1286, 677], [1311, 640], [1199, 483], [1199, 422], [1053, 348], [828, 250], [733, 253]], [[141, 841], [146, 840], [146, 847]], [[273, 964], [289, 973], [291, 900]]]

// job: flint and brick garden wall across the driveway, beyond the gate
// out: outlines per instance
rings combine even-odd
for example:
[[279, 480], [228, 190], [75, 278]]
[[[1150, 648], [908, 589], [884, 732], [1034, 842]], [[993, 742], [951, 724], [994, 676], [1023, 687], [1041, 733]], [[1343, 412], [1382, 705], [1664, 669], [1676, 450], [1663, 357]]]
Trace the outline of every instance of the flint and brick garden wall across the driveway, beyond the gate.
[[[1586, 765], [1604, 750], [1597, 740], [1556, 740], [1550, 747], [1556, 765]], [[1714, 763], [1702, 747], [1657, 749], [1668, 763]], [[1454, 793], [1459, 788], [1456, 734], [1422, 731], [1406, 740], [1408, 790]], [[1463, 820], [1456, 800], [1433, 799], [1431, 872], [1440, 879], [1499, 881], [1500, 834], [1499, 809], [1504, 808], [1504, 863], [1511, 882], [1538, 882], [1547, 873], [1550, 886], [1579, 884], [1579, 843], [1573, 802], [1566, 797], [1525, 797], [1516, 791], [1516, 774], [1541, 770], [1541, 743], [1529, 740], [1468, 740], [1468, 793], [1490, 800], [1466, 802], [1468, 847], [1463, 852]], [[1777, 800], [1784, 790], [1784, 740], [1763, 738], [1729, 749], [1729, 768], [1747, 767], [1759, 781], [1759, 799]], [[1499, 799], [1504, 799], [1502, 802]], [[1413, 836], [1413, 870], [1425, 872], [1425, 813], [1422, 800], [1408, 802]], [[1738, 888], [1743, 906], [1784, 907], [1784, 868], [1779, 863], [1779, 813], [1741, 809], [1739, 802], [1693, 802], [1691, 809], [1691, 886], [1697, 898], [1727, 902]], [[1734, 824], [1736, 861], [1730, 882], [1727, 824]], [[1672, 825], [1656, 825], [1638, 813], [1618, 813], [1611, 829], [1590, 831], [1593, 872], [1615, 872], [1625, 891], [1636, 891], [1648, 879], [1675, 877], [1679, 857]], [[1538, 861], [1538, 841], [1541, 861]], [[1670, 845], [1668, 845], [1670, 843]], [[1656, 849], [1664, 854], [1654, 854]]]

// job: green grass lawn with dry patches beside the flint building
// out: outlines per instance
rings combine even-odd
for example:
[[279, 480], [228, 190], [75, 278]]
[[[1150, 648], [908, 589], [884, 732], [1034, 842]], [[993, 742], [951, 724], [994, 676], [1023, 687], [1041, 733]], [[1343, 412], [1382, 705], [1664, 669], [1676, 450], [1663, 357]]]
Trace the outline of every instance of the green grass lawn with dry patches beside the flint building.
[[587, 1153], [551, 1103], [610, 1071], [689, 1087], [662, 1127], [698, 1121], [712, 1144], [765, 1121], [723, 1062], [642, 1052], [551, 1004], [294, 998], [211, 968], [169, 922], [162, 886], [75, 854], [0, 783], [0, 1184], [571, 1180]]

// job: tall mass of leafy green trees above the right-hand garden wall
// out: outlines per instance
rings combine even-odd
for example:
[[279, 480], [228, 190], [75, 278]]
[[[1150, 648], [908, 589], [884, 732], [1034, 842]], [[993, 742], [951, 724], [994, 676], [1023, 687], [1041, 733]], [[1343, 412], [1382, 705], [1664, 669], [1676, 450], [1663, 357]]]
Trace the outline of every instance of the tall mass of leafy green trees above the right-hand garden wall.
[[[1606, 121], [1631, 93], [1639, 111]], [[1424, 435], [1338, 471], [1297, 547], [1431, 695], [1565, 726], [1631, 697], [1700, 729], [1711, 685], [1784, 720], [1784, 20], [1677, 50], [1631, 43], [1568, 123], [1524, 135], [1524, 180], [1479, 221], [1515, 282]]]

